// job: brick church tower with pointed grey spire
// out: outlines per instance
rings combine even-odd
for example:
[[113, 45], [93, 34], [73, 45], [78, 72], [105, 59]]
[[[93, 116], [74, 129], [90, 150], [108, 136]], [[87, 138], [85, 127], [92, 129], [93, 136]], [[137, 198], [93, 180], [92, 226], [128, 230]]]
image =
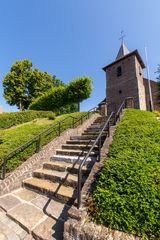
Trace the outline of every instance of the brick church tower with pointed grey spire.
[[134, 99], [135, 108], [146, 110], [144, 68], [144, 62], [138, 51], [129, 52], [122, 41], [115, 61], [103, 68], [106, 72], [108, 113], [117, 111], [128, 97]]

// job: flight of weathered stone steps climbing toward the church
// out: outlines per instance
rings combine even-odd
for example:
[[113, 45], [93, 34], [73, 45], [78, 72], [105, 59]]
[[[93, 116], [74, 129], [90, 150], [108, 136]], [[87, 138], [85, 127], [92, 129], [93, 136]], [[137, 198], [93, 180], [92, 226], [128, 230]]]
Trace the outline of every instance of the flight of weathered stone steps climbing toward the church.
[[[56, 150], [51, 161], [45, 162], [43, 168], [33, 172], [33, 177], [23, 181], [23, 186], [38, 193], [54, 197], [63, 203], [73, 203], [76, 199], [77, 172], [79, 163], [88, 153], [92, 143], [98, 136], [106, 118], [98, 117], [81, 136], [72, 136]], [[107, 131], [102, 136], [106, 138]], [[98, 146], [91, 152], [86, 166], [83, 167], [83, 182], [85, 182], [93, 163], [98, 155]]]

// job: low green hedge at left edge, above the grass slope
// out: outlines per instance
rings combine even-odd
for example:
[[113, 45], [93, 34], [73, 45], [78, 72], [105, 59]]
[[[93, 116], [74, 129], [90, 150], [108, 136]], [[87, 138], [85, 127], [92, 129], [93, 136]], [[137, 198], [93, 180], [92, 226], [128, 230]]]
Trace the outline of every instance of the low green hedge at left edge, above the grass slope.
[[51, 111], [22, 111], [0, 114], [0, 129], [10, 128], [21, 123], [30, 122], [36, 118], [48, 117]]

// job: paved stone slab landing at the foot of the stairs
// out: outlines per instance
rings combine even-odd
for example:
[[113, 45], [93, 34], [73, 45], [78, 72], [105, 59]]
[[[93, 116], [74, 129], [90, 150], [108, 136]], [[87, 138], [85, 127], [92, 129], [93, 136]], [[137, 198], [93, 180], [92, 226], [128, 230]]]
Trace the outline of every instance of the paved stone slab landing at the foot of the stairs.
[[68, 206], [18, 189], [0, 197], [0, 240], [62, 240]]

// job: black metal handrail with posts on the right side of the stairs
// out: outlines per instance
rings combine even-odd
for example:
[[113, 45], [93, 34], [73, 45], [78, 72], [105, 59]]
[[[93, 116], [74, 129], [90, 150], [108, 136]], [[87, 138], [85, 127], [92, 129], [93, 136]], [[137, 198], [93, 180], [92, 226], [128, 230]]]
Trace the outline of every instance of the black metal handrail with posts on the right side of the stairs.
[[111, 112], [111, 114], [109, 115], [109, 117], [107, 118], [103, 128], [101, 129], [101, 131], [99, 132], [97, 138], [95, 139], [94, 143], [92, 144], [90, 150], [88, 151], [87, 155], [84, 157], [84, 159], [82, 160], [82, 162], [79, 165], [79, 169], [78, 169], [78, 184], [77, 184], [77, 208], [79, 209], [81, 207], [81, 200], [82, 200], [82, 196], [81, 196], [81, 189], [82, 189], [82, 168], [85, 164], [85, 162], [87, 161], [90, 153], [92, 152], [92, 150], [94, 149], [95, 145], [98, 143], [98, 151], [99, 151], [99, 156], [97, 159], [97, 162], [101, 161], [101, 147], [102, 147], [102, 134], [104, 133], [104, 131], [107, 128], [108, 131], [108, 137], [110, 136], [110, 121], [112, 118], [114, 118], [114, 125], [116, 125], [117, 121], [120, 120], [121, 114], [123, 112], [124, 108], [128, 108], [129, 106], [127, 105], [127, 100], [130, 99], [132, 101], [132, 106], [134, 106], [134, 100], [132, 97], [130, 98], [126, 98], [122, 104], [120, 105], [117, 113], [115, 112]]

